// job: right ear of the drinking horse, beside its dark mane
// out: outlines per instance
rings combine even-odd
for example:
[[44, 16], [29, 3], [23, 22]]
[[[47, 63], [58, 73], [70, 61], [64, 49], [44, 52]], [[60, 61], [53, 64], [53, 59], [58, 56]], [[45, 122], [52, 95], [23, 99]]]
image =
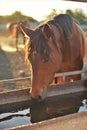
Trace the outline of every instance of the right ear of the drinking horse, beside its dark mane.
[[43, 35], [46, 40], [48, 40], [51, 36], [51, 27], [49, 24], [45, 24], [42, 28]]

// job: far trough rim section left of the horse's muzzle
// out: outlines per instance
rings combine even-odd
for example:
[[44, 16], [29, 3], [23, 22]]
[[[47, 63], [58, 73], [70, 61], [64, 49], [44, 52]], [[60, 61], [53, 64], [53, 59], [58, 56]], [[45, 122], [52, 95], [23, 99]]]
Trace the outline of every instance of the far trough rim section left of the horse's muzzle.
[[31, 100], [29, 89], [14, 90], [0, 93], [0, 105]]

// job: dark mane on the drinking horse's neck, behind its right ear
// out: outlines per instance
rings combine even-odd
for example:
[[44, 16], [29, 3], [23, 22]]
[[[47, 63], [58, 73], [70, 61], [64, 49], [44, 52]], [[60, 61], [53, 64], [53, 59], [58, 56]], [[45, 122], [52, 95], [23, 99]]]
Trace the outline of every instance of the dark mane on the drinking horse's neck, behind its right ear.
[[65, 55], [70, 51], [70, 35], [73, 31], [73, 18], [68, 14], [60, 14], [49, 21], [49, 24], [54, 24], [60, 32], [62, 42], [61, 51]]

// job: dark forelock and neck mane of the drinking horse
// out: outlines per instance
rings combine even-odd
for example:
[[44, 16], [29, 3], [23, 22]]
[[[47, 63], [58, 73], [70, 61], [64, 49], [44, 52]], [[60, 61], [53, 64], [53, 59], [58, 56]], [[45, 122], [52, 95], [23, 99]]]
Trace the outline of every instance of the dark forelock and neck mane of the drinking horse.
[[[70, 50], [70, 34], [72, 33], [72, 25], [73, 25], [73, 18], [67, 14], [60, 14], [58, 16], [55, 16], [53, 20], [48, 21], [47, 23], [51, 26], [52, 24], [56, 26], [56, 28], [60, 32], [60, 38], [62, 41], [62, 49], [61, 51], [68, 52]], [[40, 53], [45, 60], [49, 59], [49, 53], [50, 53], [50, 47], [44, 38], [44, 35], [42, 33], [42, 28], [44, 27], [44, 24], [41, 26], [38, 26], [35, 29], [35, 32], [30, 36], [31, 37], [31, 44], [30, 48], [33, 51], [36, 51]], [[62, 30], [62, 31], [61, 31]], [[57, 47], [55, 34], [52, 32], [51, 37], [53, 39], [54, 45]]]

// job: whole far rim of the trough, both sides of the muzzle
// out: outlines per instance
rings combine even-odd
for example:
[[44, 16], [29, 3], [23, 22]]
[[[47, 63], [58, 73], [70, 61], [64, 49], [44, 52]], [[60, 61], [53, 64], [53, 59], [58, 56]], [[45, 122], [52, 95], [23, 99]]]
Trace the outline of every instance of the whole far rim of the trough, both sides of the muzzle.
[[[87, 80], [65, 83], [62, 85], [51, 85], [47, 92], [47, 98], [76, 92], [84, 92], [87, 90], [86, 84]], [[30, 88], [0, 93], [0, 105], [31, 101], [32, 99], [29, 89]]]

